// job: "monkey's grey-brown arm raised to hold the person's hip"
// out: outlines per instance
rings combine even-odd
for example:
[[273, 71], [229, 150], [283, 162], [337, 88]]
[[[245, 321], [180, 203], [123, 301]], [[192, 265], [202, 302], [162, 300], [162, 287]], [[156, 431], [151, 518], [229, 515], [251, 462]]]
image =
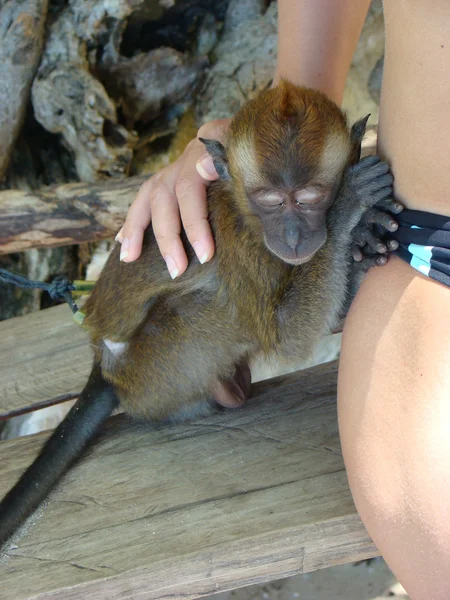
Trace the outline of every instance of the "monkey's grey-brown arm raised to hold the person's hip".
[[378, 157], [347, 169], [328, 213], [327, 241], [309, 262], [294, 269], [278, 310], [290, 351], [302, 350], [296, 347], [301, 338], [313, 346], [338, 323], [348, 297], [352, 230], [368, 208], [391, 197], [392, 181], [388, 165]]

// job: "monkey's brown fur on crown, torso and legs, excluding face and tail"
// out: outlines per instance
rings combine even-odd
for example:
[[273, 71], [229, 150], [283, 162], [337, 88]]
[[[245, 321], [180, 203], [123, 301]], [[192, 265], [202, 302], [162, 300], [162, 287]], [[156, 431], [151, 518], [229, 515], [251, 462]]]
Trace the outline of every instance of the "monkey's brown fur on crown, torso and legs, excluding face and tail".
[[[114, 384], [126, 410], [166, 417], [199, 394], [206, 396], [214, 380], [230, 376], [238, 360], [273, 351], [288, 354], [294, 346], [307, 354], [326, 332], [332, 317], [324, 315], [331, 311], [333, 298], [320, 294], [333, 264], [330, 242], [301, 267], [274, 256], [266, 247], [264, 222], [247, 200], [246, 175], [253, 185], [259, 181], [283, 186], [284, 172], [292, 167], [299, 174], [288, 185], [306, 185], [317, 171], [330, 132], [344, 139], [348, 156], [345, 118], [325, 96], [288, 82], [263, 92], [230, 127], [231, 178], [210, 187], [214, 259], [200, 265], [187, 244], [189, 267], [172, 281], [151, 229], [139, 260], [121, 263], [119, 248], [114, 249], [87, 302], [86, 325], [103, 376]], [[243, 153], [247, 163], [242, 162]], [[252, 162], [256, 171], [248, 173], [255, 168]], [[279, 174], [277, 182], [274, 172]], [[340, 181], [341, 175], [342, 167], [334, 177]], [[300, 279], [305, 288], [302, 300], [295, 296]], [[298, 302], [292, 314], [286, 308], [291, 297]], [[320, 310], [309, 314], [306, 305]], [[105, 339], [128, 346], [114, 359], [105, 349]], [[300, 341], [292, 345], [294, 339]]]

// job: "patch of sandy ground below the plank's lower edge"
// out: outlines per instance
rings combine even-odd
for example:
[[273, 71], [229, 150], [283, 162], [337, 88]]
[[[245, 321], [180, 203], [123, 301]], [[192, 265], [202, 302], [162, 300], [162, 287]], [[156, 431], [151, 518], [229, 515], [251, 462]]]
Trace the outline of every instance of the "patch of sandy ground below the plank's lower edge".
[[381, 558], [211, 596], [210, 600], [409, 600]]

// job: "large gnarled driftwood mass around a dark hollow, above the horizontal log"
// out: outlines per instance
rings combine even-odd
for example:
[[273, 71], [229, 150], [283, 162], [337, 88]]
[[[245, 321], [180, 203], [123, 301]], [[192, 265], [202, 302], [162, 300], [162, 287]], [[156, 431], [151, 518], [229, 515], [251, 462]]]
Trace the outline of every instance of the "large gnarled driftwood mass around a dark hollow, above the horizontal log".
[[[150, 25], [152, 15], [165, 12], [159, 0], [72, 0], [50, 24], [32, 87], [34, 116], [47, 131], [61, 136], [82, 181], [129, 174], [135, 125], [142, 129], [156, 118], [176, 120], [192, 103], [208, 64], [201, 52], [209, 52], [217, 41], [216, 13], [223, 0], [213, 2], [203, 17], [200, 8], [208, 0], [179, 4], [178, 18], [186, 28], [187, 13], [196, 15], [185, 35], [198, 30], [200, 39], [189, 50], [142, 51], [139, 36], [130, 44], [128, 35], [129, 54], [122, 54], [128, 20], [141, 14]], [[161, 20], [159, 29], [157, 21], [155, 27], [155, 37], [166, 29], [171, 39], [169, 21]]]

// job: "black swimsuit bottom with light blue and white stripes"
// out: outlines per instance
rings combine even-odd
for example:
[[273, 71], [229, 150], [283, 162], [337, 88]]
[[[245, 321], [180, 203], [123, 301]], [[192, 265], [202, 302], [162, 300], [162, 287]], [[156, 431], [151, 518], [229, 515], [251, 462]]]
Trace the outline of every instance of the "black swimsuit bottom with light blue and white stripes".
[[405, 209], [395, 219], [399, 228], [390, 237], [400, 246], [393, 254], [450, 287], [450, 217]]

